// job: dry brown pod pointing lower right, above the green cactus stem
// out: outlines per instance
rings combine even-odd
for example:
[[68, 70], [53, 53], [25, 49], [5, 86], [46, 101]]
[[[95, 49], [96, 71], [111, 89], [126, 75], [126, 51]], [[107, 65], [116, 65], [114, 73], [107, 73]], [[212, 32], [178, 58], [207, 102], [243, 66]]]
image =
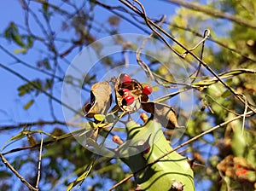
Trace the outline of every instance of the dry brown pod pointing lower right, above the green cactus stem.
[[174, 129], [178, 127], [177, 124], [177, 115], [175, 110], [163, 103], [158, 102], [143, 102], [142, 101], [143, 110], [152, 113], [156, 119], [167, 129]]

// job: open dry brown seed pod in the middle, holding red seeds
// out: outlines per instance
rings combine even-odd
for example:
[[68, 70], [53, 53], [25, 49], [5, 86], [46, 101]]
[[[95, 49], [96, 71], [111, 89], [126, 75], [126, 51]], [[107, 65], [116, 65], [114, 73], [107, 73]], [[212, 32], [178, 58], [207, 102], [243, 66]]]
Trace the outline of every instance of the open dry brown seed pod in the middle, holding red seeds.
[[[116, 102], [119, 108], [125, 113], [135, 113], [141, 107], [141, 101], [148, 101], [148, 96], [143, 95], [143, 86], [136, 79], [132, 78], [129, 83], [122, 82], [121, 77], [124, 75], [124, 73], [119, 74], [119, 77], [115, 80], [114, 90]], [[129, 105], [125, 105], [123, 100], [128, 96], [132, 96], [134, 101]]]

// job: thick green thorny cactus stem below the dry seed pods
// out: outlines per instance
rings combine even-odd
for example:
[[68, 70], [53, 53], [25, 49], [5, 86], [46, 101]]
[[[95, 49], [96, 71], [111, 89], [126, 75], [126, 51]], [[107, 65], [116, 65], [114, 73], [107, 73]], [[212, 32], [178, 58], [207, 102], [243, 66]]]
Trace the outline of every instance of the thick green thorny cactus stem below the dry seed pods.
[[[129, 165], [131, 171], [138, 171], [148, 163], [155, 162], [137, 175], [136, 181], [142, 190], [171, 190], [172, 185], [179, 182], [182, 183], [183, 190], [195, 190], [193, 171], [186, 157], [172, 152], [156, 162], [156, 159], [172, 150], [160, 129], [160, 123], [149, 120], [147, 124], [140, 126], [130, 121], [126, 124], [126, 129], [129, 141], [119, 146], [119, 153], [122, 156], [128, 154], [128, 157], [121, 159]], [[147, 153], [144, 153], [146, 150]]]

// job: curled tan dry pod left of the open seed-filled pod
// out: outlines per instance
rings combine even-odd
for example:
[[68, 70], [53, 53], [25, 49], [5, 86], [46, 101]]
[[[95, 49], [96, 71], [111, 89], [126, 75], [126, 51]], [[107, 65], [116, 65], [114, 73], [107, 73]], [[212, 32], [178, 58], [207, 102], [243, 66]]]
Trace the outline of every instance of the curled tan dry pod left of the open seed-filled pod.
[[87, 118], [93, 118], [95, 114], [105, 115], [108, 112], [112, 103], [111, 86], [108, 81], [98, 82], [91, 86], [90, 103], [90, 110], [85, 114]]

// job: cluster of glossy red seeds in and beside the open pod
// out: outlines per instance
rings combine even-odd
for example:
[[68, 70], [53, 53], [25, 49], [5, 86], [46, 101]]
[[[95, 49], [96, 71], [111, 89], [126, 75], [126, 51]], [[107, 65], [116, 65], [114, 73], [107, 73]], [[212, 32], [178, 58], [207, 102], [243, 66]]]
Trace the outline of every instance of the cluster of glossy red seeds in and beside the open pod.
[[[121, 77], [120, 77], [120, 80], [123, 84], [131, 84], [131, 76], [128, 75], [127, 73], [122, 74]], [[122, 105], [123, 106], [130, 106], [133, 103], [133, 101], [135, 100], [134, 96], [131, 96], [131, 95], [125, 96], [126, 95], [125, 93], [129, 92], [129, 91], [130, 90], [128, 90], [128, 89], [118, 90], [119, 95], [124, 96], [124, 98], [122, 100]], [[143, 87], [143, 94], [149, 95], [151, 93], [152, 93], [152, 87], [149, 86], [149, 85], [145, 85]]]

